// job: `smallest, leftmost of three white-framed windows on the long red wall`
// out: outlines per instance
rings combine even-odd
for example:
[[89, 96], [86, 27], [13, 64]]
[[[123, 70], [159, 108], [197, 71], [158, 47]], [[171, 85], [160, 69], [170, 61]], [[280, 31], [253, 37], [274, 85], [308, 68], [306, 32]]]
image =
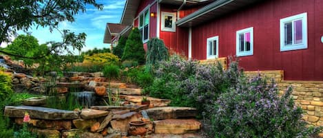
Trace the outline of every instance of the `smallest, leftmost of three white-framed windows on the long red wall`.
[[207, 59], [218, 58], [219, 36], [207, 38]]

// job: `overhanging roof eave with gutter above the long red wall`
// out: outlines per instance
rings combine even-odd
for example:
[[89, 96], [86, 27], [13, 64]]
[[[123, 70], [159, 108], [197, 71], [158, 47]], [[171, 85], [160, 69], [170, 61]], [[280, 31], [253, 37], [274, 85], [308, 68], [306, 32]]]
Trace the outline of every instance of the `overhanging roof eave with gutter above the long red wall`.
[[244, 6], [264, 0], [217, 0], [209, 5], [185, 16], [176, 22], [180, 27], [191, 27], [222, 16]]

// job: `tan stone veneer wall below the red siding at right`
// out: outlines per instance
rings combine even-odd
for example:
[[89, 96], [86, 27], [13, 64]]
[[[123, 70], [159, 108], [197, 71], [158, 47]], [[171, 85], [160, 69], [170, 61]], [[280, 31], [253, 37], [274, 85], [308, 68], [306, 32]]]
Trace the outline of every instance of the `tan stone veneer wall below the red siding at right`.
[[282, 94], [287, 87], [293, 87], [295, 104], [304, 110], [303, 119], [315, 126], [323, 126], [323, 81], [295, 81], [284, 80], [284, 71], [245, 71], [247, 76], [258, 73], [274, 78]]

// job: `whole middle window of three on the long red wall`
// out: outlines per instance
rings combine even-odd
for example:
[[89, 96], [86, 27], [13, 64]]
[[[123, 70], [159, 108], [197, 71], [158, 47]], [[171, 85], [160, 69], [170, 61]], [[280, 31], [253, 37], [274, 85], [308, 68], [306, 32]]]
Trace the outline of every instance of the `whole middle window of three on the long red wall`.
[[236, 35], [236, 55], [253, 55], [253, 27], [237, 31]]

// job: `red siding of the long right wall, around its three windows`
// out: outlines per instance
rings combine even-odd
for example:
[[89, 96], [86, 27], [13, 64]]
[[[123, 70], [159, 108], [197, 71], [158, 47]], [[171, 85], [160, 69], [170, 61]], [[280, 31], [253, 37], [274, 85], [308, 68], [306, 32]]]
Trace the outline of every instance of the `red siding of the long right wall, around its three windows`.
[[[285, 80], [323, 80], [323, 1], [271, 0], [192, 28], [192, 57], [206, 59], [206, 40], [219, 36], [219, 57], [236, 54], [236, 31], [253, 27], [253, 56], [240, 57], [247, 71], [284, 70]], [[280, 51], [280, 19], [307, 12], [308, 49]]]

